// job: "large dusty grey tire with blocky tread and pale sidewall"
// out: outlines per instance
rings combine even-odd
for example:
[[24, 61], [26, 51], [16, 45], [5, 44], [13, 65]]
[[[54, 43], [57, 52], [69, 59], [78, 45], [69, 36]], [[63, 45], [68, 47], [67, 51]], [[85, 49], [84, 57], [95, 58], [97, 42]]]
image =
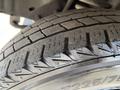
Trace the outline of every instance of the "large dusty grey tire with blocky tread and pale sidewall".
[[1, 90], [115, 87], [119, 40], [117, 10], [72, 10], [42, 18], [1, 50]]

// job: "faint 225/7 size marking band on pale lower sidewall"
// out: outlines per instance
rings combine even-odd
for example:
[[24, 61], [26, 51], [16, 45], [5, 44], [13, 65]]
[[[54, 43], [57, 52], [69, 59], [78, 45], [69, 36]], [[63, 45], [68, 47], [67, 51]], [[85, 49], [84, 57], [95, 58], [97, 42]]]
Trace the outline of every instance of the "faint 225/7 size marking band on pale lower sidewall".
[[[77, 81], [76, 83], [69, 84], [65, 87], [62, 87], [60, 90], [80, 90], [85, 89], [89, 87], [95, 87], [100, 86], [103, 84], [111, 84], [111, 83], [118, 83], [120, 82], [120, 75], [111, 75], [111, 76], [105, 76], [102, 78], [95, 78], [92, 80], [86, 80], [86, 81]], [[102, 87], [103, 88], [103, 87]]]

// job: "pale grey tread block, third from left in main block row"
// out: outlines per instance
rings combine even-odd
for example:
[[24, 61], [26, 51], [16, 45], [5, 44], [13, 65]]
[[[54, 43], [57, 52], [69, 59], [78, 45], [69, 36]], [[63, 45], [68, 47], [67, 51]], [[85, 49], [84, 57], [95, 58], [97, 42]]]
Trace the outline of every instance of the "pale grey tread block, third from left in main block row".
[[15, 43], [14, 44], [14, 48], [15, 48], [15, 50], [18, 50], [18, 49], [20, 49], [20, 48], [22, 48], [22, 47], [24, 47], [25, 45], [28, 45], [28, 44], [30, 44], [29, 39], [28, 38], [24, 38], [23, 40]]

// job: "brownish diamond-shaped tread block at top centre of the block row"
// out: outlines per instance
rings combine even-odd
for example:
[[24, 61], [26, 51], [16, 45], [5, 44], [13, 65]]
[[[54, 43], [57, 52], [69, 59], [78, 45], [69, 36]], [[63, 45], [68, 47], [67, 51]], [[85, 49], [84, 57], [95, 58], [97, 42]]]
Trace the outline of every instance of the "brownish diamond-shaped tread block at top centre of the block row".
[[76, 28], [76, 27], [79, 27], [79, 26], [83, 26], [82, 23], [79, 23], [75, 20], [64, 22], [61, 25], [65, 28], [67, 28], [67, 29], [72, 29], [72, 28]]

